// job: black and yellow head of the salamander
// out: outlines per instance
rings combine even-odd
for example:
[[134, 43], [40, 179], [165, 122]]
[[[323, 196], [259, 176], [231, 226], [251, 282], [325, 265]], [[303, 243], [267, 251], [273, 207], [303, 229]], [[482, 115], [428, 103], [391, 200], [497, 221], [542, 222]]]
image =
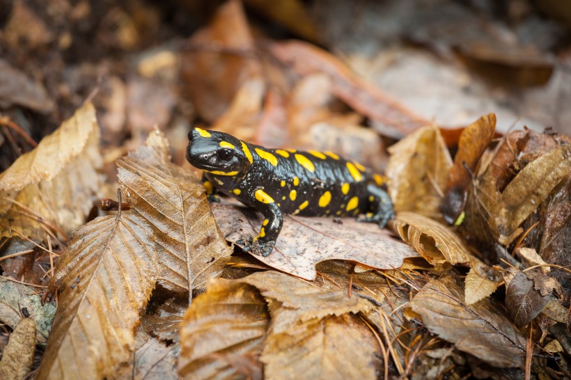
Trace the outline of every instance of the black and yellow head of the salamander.
[[214, 175], [244, 175], [251, 165], [249, 149], [234, 136], [194, 128], [189, 134], [187, 161]]

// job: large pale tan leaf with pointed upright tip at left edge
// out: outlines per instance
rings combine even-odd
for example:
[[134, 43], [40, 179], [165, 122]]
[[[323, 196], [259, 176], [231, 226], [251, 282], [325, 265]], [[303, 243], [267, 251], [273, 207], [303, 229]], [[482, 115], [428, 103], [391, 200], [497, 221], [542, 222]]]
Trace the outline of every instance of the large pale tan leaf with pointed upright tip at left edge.
[[1, 236], [70, 234], [100, 194], [100, 132], [91, 103], [0, 175]]

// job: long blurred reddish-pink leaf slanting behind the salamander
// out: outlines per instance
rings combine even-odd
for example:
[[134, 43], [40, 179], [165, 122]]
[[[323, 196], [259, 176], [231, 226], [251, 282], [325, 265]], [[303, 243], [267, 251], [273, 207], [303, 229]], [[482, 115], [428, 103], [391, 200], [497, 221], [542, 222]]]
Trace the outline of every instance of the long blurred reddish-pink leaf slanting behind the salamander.
[[358, 113], [390, 127], [393, 134], [405, 136], [429, 125], [396, 100], [354, 74], [328, 52], [302, 41], [274, 42], [269, 51], [280, 61], [292, 65], [301, 76], [323, 72], [333, 81], [333, 93]]

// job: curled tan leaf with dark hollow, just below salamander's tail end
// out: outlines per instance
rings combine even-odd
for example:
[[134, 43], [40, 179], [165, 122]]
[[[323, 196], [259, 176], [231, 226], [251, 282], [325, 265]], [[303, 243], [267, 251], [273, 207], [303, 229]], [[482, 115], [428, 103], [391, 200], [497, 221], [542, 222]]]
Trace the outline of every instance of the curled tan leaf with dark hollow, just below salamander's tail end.
[[474, 256], [447, 225], [412, 212], [399, 212], [394, 221], [398, 235], [412, 244], [428, 262], [472, 262]]

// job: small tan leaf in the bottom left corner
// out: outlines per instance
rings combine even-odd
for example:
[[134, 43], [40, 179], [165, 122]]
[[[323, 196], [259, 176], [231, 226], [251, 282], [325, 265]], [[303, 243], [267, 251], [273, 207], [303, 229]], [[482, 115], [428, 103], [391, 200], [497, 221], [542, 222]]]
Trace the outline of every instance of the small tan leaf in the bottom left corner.
[[3, 349], [0, 360], [0, 379], [26, 379], [33, 363], [35, 350], [36, 322], [31, 318], [24, 318], [10, 334], [8, 345]]

